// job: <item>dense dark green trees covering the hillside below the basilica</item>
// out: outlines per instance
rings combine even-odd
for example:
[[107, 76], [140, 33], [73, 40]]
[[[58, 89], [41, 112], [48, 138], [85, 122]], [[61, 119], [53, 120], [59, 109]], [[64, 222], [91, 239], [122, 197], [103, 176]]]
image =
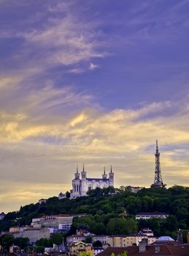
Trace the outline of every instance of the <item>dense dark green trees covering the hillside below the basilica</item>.
[[[88, 214], [74, 218], [70, 233], [79, 227], [88, 228], [96, 234], [129, 234], [142, 227], [151, 227], [156, 236], [177, 236], [177, 230], [189, 229], [189, 187], [174, 186], [169, 189], [142, 189], [134, 194], [121, 187], [120, 193], [109, 195], [114, 189], [95, 189], [88, 197], [74, 200], [51, 197], [47, 203], [21, 206], [20, 211], [10, 212], [0, 222], [0, 230], [8, 230], [12, 225], [30, 225], [31, 219], [50, 214]], [[139, 212], [165, 212], [166, 220], [150, 219], [136, 222]]]

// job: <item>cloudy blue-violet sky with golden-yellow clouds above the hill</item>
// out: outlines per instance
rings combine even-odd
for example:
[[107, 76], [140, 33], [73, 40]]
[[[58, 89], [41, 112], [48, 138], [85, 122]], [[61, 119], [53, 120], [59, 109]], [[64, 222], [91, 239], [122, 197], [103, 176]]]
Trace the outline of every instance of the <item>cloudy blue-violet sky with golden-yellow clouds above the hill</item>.
[[189, 186], [188, 0], [0, 0], [0, 211], [72, 189], [76, 166]]

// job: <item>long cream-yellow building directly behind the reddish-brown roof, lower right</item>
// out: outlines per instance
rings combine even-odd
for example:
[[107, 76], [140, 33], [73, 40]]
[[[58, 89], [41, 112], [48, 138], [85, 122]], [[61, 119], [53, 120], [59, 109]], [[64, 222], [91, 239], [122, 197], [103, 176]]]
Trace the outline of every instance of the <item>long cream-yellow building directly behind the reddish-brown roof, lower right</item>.
[[107, 244], [109, 244], [112, 247], [127, 247], [132, 245], [139, 245], [139, 242], [142, 241], [142, 239], [147, 239], [147, 244], [153, 244], [156, 241], [155, 236], [143, 236], [140, 234], [134, 234], [134, 235], [117, 235], [117, 236], [109, 236], [107, 238]]

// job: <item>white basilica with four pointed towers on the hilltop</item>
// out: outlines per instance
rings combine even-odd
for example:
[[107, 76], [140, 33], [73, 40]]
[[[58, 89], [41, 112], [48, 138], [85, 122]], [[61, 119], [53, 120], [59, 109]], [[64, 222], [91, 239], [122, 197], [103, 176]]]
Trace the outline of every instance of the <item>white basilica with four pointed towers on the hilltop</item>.
[[72, 180], [72, 189], [70, 190], [70, 198], [82, 197], [87, 195], [87, 192], [91, 189], [96, 189], [97, 187], [103, 189], [107, 187], [114, 187], [114, 173], [112, 172], [112, 166], [109, 172], [109, 176], [107, 176], [105, 167], [104, 173], [102, 174], [102, 178], [88, 178], [87, 172], [85, 171], [84, 165], [80, 173], [77, 171], [75, 173], [75, 178]]

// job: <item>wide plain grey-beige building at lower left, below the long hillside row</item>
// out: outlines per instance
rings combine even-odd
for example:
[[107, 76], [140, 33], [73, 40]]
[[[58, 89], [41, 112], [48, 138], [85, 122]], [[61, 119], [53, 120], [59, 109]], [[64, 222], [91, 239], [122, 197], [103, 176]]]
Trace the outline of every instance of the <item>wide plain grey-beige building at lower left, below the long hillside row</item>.
[[12, 233], [15, 238], [29, 238], [30, 244], [34, 245], [41, 238], [50, 238], [50, 230], [47, 227], [28, 227]]

